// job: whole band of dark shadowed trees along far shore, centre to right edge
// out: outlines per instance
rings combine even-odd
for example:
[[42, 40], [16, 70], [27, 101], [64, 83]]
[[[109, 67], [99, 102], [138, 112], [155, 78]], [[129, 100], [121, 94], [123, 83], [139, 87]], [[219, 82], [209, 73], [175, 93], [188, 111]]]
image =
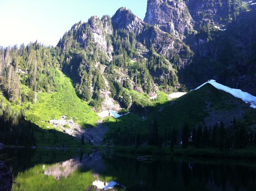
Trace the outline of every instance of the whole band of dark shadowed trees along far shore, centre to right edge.
[[[122, 135], [122, 136], [120, 136]], [[222, 150], [244, 149], [256, 146], [256, 131], [247, 128], [243, 124], [237, 123], [236, 118], [232, 125], [227, 126], [222, 121], [215, 123], [213, 127], [198, 125], [191, 129], [188, 124], [181, 128], [158, 128], [157, 120], [152, 121], [148, 131], [140, 132], [134, 128], [117, 128], [111, 132], [110, 139], [115, 145], [122, 146], [169, 146], [173, 148], [186, 148], [194, 146], [196, 148], [215, 148]]]

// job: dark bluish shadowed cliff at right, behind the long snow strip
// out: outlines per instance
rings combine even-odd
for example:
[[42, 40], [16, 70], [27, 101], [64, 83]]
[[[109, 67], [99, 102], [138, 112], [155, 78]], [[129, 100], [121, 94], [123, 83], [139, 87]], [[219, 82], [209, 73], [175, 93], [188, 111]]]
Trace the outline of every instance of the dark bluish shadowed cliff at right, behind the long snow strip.
[[187, 68], [185, 83], [188, 87], [193, 89], [204, 81], [215, 79], [228, 87], [256, 95], [255, 23], [256, 12], [251, 10], [241, 13], [225, 31], [215, 30], [210, 36], [196, 35], [189, 42], [196, 57]]

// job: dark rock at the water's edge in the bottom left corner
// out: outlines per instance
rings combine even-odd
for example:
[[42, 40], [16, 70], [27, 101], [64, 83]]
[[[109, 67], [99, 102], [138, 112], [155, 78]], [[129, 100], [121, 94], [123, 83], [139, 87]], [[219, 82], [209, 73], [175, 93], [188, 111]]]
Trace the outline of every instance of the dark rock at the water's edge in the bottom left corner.
[[10, 191], [11, 189], [12, 172], [4, 161], [0, 161], [0, 191]]

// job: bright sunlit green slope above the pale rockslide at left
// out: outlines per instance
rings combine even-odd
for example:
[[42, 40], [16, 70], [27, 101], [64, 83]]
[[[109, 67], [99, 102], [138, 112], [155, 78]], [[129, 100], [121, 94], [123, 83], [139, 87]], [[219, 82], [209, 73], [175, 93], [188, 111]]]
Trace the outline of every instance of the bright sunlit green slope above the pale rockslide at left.
[[36, 104], [31, 105], [26, 116], [28, 118], [35, 117], [36, 121], [34, 122], [39, 126], [49, 125], [47, 123], [49, 120], [59, 119], [62, 115], [73, 117], [74, 121], [82, 127], [96, 126], [97, 114], [92, 111], [87, 102], [77, 97], [70, 79], [61, 71], [58, 72], [59, 76], [55, 78], [59, 84], [58, 92], [38, 93]]

